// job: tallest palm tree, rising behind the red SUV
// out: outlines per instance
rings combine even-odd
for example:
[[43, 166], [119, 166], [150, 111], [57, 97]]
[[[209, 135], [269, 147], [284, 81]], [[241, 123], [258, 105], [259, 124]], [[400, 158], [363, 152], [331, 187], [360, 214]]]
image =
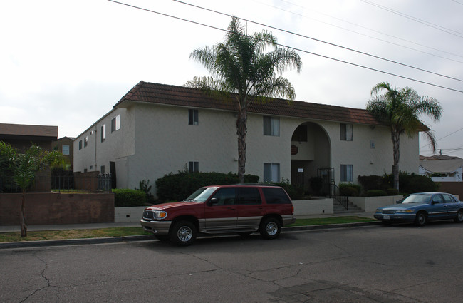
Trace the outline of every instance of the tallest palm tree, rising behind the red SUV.
[[[266, 52], [266, 47], [273, 51]], [[277, 73], [296, 68], [301, 71], [302, 61], [296, 51], [280, 48], [276, 37], [268, 31], [247, 36], [246, 29], [233, 17], [224, 43], [205, 46], [192, 51], [190, 58], [202, 63], [212, 77], [194, 77], [185, 86], [202, 88], [216, 96], [231, 96], [238, 111], [238, 175], [244, 183], [246, 165], [247, 108], [251, 102], [265, 102], [266, 98], [288, 98], [296, 94], [288, 79]]]

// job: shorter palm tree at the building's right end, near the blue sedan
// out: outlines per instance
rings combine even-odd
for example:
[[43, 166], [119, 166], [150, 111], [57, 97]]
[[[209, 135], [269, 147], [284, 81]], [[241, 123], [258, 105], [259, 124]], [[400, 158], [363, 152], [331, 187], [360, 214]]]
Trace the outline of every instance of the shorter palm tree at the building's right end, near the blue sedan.
[[[385, 91], [383, 95], [378, 95]], [[367, 103], [367, 111], [375, 118], [390, 125], [392, 151], [394, 165], [394, 188], [399, 189], [399, 160], [400, 160], [400, 135], [407, 134], [410, 138], [417, 131], [424, 131], [430, 141], [433, 151], [436, 150], [434, 133], [427, 128], [418, 118], [419, 115], [428, 115], [432, 120], [438, 121], [442, 115], [442, 107], [435, 98], [418, 96], [412, 88], [392, 88], [390, 83], [378, 83], [371, 90], [372, 98]]]

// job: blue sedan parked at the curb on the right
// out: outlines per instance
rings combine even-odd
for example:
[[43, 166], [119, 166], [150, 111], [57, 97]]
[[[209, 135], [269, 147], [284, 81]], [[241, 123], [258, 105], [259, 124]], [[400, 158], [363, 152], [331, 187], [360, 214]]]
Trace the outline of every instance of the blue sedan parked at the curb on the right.
[[445, 192], [420, 192], [409, 195], [396, 205], [378, 207], [375, 219], [385, 223], [415, 222], [424, 226], [432, 220], [463, 222], [463, 202]]

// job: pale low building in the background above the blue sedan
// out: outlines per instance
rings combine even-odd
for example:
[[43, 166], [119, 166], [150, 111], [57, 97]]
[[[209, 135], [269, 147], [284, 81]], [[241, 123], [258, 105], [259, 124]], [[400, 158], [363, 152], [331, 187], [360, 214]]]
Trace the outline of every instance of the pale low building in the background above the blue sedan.
[[420, 175], [431, 177], [435, 182], [462, 182], [463, 159], [420, 160]]

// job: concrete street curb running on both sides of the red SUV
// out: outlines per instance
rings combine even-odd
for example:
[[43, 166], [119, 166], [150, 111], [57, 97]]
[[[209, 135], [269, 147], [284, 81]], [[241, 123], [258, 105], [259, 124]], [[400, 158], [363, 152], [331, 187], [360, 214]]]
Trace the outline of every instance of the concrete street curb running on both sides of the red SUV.
[[[308, 225], [308, 226], [291, 226], [283, 227], [282, 231], [298, 231], [298, 230], [332, 230], [335, 228], [346, 227], [362, 227], [369, 225], [380, 225], [380, 221], [373, 222], [358, 222], [358, 223], [342, 223], [342, 224], [326, 224], [326, 225]], [[0, 250], [7, 248], [31, 248], [31, 247], [53, 247], [63, 245], [90, 245], [90, 244], [105, 244], [119, 242], [135, 242], [155, 240], [152, 235], [136, 235], [125, 237], [101, 237], [88, 239], [69, 239], [69, 240], [42, 240], [42, 241], [23, 241], [23, 242], [2, 242]]]

